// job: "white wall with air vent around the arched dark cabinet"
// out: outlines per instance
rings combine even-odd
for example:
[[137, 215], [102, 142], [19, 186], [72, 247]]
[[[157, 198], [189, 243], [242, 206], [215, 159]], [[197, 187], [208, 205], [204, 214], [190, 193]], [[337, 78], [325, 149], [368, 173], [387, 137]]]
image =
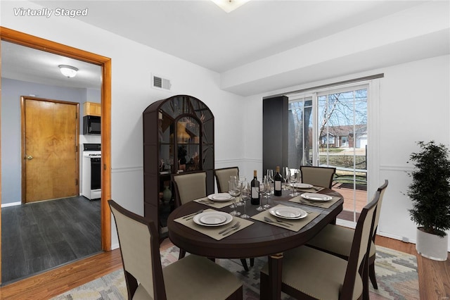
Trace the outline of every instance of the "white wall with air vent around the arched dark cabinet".
[[[1, 26], [90, 51], [112, 59], [112, 196], [119, 204], [143, 214], [142, 112], [159, 99], [190, 94], [214, 113], [217, 165], [242, 163], [242, 96], [219, 89], [219, 75], [193, 63], [143, 46], [129, 39], [65, 17], [15, 17], [13, 8], [39, 8], [27, 1], [2, 1]], [[151, 87], [152, 73], [172, 82], [172, 91]], [[2, 128], [4, 130], [4, 128]], [[231, 144], [230, 141], [234, 141]], [[115, 227], [112, 245], [118, 246]]]

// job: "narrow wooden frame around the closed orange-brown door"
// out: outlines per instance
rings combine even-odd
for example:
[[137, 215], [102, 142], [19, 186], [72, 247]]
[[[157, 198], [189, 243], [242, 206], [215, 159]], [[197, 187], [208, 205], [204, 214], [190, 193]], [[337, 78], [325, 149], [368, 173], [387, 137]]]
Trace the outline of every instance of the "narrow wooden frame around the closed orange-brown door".
[[[77, 180], [77, 182], [78, 182], [78, 184], [77, 184], [77, 187], [76, 187], [76, 189], [77, 189], [77, 191], [76, 191], [76, 193], [77, 193], [77, 195], [79, 195], [79, 152], [80, 152], [80, 149], [79, 149], [79, 133], [80, 133], [80, 130], [79, 130], [79, 103], [77, 103], [77, 102], [71, 102], [71, 101], [63, 101], [63, 100], [56, 100], [56, 99], [46, 99], [46, 98], [38, 98], [38, 97], [34, 97], [34, 96], [20, 96], [20, 123], [21, 123], [21, 127], [22, 127], [22, 129], [20, 130], [20, 133], [21, 133], [21, 142], [22, 142], [22, 146], [20, 147], [21, 148], [21, 154], [22, 154], [22, 158], [25, 158], [25, 155], [27, 155], [27, 153], [25, 152], [25, 150], [26, 150], [26, 139], [25, 139], [25, 134], [26, 134], [26, 125], [25, 125], [25, 115], [26, 115], [26, 113], [25, 113], [25, 101], [27, 101], [27, 100], [32, 100], [32, 101], [46, 101], [46, 102], [51, 102], [51, 103], [54, 103], [54, 104], [68, 104], [68, 105], [73, 105], [73, 106], [76, 106], [76, 108], [77, 108], [77, 121], [76, 121], [76, 128], [75, 128], [75, 132], [76, 132], [76, 135], [77, 135], [77, 137], [76, 137], [76, 139], [75, 139], [75, 146], [77, 147], [77, 151], [76, 151], [76, 154], [75, 154], [75, 159], [76, 159], [76, 162], [75, 162], [75, 165], [77, 165], [77, 170], [76, 170], [76, 180]], [[26, 182], [27, 182], [27, 177], [26, 177], [26, 163], [25, 163], [25, 161], [23, 160], [22, 161], [22, 204], [26, 204], [27, 203], [27, 189], [26, 189]], [[47, 199], [46, 199], [47, 200]], [[0, 199], [0, 201], [1, 201], [1, 199]], [[0, 241], [0, 244], [1, 244], [1, 241]], [[1, 249], [1, 248], [0, 248]]]

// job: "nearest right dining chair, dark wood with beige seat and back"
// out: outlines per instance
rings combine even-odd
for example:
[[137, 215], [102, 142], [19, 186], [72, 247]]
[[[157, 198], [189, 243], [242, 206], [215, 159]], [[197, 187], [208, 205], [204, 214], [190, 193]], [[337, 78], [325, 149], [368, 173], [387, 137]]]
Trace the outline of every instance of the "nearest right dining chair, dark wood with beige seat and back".
[[[374, 215], [380, 192], [361, 211], [352, 239], [348, 260], [309, 246], [300, 246], [283, 254], [281, 291], [295, 299], [349, 300], [364, 298], [364, 268], [371, 241]], [[261, 299], [269, 295], [269, 265], [260, 272]], [[367, 281], [367, 280], [366, 280]]]

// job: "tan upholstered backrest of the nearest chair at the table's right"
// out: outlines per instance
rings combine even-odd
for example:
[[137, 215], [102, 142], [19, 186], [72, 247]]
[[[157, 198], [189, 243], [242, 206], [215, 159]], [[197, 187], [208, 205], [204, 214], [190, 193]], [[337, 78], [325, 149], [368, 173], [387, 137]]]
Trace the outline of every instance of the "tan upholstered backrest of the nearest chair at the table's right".
[[375, 192], [373, 200], [364, 206], [361, 215], [359, 215], [354, 230], [352, 249], [347, 263], [347, 271], [345, 273], [345, 280], [344, 285], [342, 285], [340, 299], [352, 299], [357, 272], [359, 272], [362, 277], [361, 272], [364, 267], [363, 263], [364, 260], [367, 259], [366, 254], [368, 254], [371, 246], [375, 213], [377, 211], [379, 199], [380, 192], [377, 191]]

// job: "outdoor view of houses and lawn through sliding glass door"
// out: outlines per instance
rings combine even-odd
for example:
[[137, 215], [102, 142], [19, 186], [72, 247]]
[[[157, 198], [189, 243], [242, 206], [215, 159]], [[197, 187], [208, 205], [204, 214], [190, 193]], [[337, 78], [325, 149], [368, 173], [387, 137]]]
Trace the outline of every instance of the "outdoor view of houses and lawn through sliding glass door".
[[[317, 151], [318, 165], [336, 168], [333, 186], [352, 190], [345, 196], [344, 209], [347, 206], [357, 213], [367, 203], [367, 89], [316, 96], [316, 128], [312, 96], [290, 101], [289, 165], [315, 165], [313, 151]], [[313, 135], [317, 137], [316, 147]], [[342, 194], [342, 189], [339, 192]], [[356, 201], [361, 204], [355, 205]]]

